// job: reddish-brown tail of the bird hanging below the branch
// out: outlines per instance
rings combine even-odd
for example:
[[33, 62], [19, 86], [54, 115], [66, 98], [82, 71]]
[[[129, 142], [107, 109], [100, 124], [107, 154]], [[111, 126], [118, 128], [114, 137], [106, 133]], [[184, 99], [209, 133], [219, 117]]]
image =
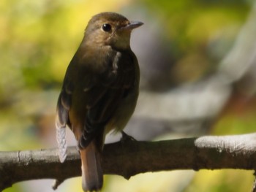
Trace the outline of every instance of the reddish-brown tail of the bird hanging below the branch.
[[85, 149], [80, 150], [82, 160], [83, 191], [99, 191], [102, 188], [103, 172], [101, 153], [92, 141]]

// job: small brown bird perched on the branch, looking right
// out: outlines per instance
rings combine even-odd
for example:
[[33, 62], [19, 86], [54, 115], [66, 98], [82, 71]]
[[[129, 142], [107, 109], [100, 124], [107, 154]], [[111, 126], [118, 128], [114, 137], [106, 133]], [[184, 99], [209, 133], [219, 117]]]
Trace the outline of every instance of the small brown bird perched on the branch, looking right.
[[56, 115], [59, 158], [66, 158], [69, 126], [80, 150], [83, 191], [102, 188], [105, 135], [121, 131], [135, 110], [140, 70], [129, 40], [141, 25], [114, 12], [95, 15], [67, 68]]

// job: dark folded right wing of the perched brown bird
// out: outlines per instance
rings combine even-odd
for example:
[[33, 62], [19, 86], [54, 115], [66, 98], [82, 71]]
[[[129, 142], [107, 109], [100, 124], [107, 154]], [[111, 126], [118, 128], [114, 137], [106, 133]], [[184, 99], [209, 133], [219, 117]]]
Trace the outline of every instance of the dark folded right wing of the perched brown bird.
[[[135, 68], [132, 66], [133, 61], [130, 61], [130, 59], [132, 57], [127, 54], [121, 55], [118, 59], [115, 58], [113, 61], [118, 64], [113, 65], [118, 66], [118, 68], [116, 68], [117, 72], [112, 72], [110, 81], [102, 82], [88, 90], [89, 108], [85, 118], [83, 137], [79, 141], [80, 148], [87, 147], [97, 137], [97, 134], [104, 130], [106, 123], [116, 112], [121, 99], [127, 96], [133, 88]], [[99, 131], [99, 129], [102, 129], [102, 131]], [[99, 147], [101, 147], [100, 145], [102, 144], [99, 144]]]

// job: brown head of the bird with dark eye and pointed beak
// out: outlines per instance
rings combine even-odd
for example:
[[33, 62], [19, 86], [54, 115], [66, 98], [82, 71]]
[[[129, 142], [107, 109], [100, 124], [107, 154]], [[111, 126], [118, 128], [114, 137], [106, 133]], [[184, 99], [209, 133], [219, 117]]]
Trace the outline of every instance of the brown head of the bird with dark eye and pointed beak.
[[102, 47], [110, 46], [116, 50], [129, 49], [131, 31], [143, 25], [141, 22], [131, 22], [114, 12], [102, 12], [94, 15], [85, 31], [84, 42]]

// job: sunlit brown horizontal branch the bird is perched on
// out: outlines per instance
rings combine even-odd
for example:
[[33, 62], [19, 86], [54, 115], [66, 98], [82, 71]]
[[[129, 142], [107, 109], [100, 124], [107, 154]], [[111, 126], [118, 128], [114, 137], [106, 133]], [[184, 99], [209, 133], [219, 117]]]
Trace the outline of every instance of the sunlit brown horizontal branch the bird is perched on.
[[[0, 152], [0, 190], [24, 180], [56, 179], [53, 188], [69, 177], [80, 176], [80, 156], [69, 147], [59, 162], [57, 149]], [[105, 174], [127, 179], [144, 172], [175, 169], [256, 169], [256, 134], [199, 137], [159, 142], [130, 139], [105, 145]]]

